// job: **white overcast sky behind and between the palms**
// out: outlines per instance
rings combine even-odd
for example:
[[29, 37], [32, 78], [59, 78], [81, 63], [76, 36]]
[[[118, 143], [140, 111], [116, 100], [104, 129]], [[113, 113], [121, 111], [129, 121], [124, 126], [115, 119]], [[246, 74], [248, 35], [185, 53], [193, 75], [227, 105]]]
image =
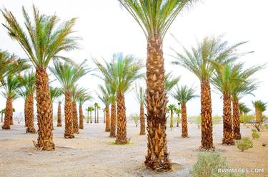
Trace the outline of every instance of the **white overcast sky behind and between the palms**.
[[[122, 52], [133, 54], [146, 60], [147, 41], [141, 28], [134, 19], [119, 6], [116, 0], [1, 0], [1, 8], [6, 7], [13, 12], [20, 23], [23, 22], [21, 6], [32, 14], [31, 5], [35, 4], [41, 14], [55, 14], [61, 20], [77, 17], [75, 30], [76, 36], [83, 38], [80, 41], [81, 50], [64, 53], [77, 63], [81, 63], [85, 58], [89, 59], [88, 64], [94, 68], [91, 57], [102, 60], [110, 60], [113, 53]], [[182, 75], [180, 85], [195, 85], [199, 94], [199, 80], [197, 77], [178, 65], [172, 65], [173, 60], [170, 47], [181, 50], [181, 46], [174, 41], [171, 33], [176, 36], [179, 43], [190, 46], [196, 43], [197, 39], [202, 39], [207, 35], [225, 34], [224, 39], [230, 44], [239, 41], [249, 41], [240, 48], [241, 51], [254, 51], [254, 53], [244, 56], [240, 60], [246, 62], [247, 67], [268, 62], [267, 55], [267, 0], [203, 0], [192, 6], [191, 9], [179, 15], [164, 38], [164, 58], [166, 71], [173, 71], [174, 75]], [[4, 23], [4, 18], [0, 16], [0, 22]], [[21, 57], [26, 57], [24, 52], [15, 41], [6, 33], [6, 29], [0, 26], [0, 48], [9, 50]], [[242, 99], [248, 107], [253, 109], [252, 100], [263, 100], [268, 102], [268, 68], [257, 73], [255, 77], [261, 81], [260, 87], [254, 92], [255, 97], [247, 96]], [[51, 75], [51, 79], [53, 76]], [[79, 85], [94, 90], [101, 83], [98, 78], [86, 75], [79, 82]], [[59, 85], [54, 82], [53, 85]], [[213, 88], [213, 86], [212, 86]], [[4, 108], [6, 100], [1, 97], [0, 108]], [[169, 103], [176, 103], [171, 98]], [[94, 100], [100, 102], [99, 100]], [[93, 104], [86, 102], [85, 106]], [[16, 114], [23, 112], [23, 100], [18, 99], [14, 102]], [[103, 107], [103, 105], [101, 104]], [[213, 114], [222, 115], [221, 95], [212, 92]], [[54, 105], [56, 110], [56, 104]], [[139, 106], [134, 100], [133, 94], [126, 95], [126, 114], [139, 112]], [[200, 112], [199, 98], [188, 102], [187, 112], [189, 115], [197, 115]]]

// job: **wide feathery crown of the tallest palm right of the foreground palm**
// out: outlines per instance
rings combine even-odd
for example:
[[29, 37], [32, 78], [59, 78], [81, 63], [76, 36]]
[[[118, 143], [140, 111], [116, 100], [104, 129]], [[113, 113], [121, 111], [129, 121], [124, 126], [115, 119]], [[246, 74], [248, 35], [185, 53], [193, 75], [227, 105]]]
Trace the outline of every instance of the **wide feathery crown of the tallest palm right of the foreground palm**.
[[197, 75], [199, 80], [209, 80], [214, 72], [213, 63], [225, 65], [230, 63], [245, 53], [237, 53], [237, 48], [247, 42], [236, 43], [229, 46], [228, 41], [222, 40], [223, 36], [217, 38], [205, 37], [202, 42], [197, 42], [197, 46], [191, 49], [183, 48], [184, 53], [176, 53], [176, 60], [172, 63], [181, 65], [187, 70]]

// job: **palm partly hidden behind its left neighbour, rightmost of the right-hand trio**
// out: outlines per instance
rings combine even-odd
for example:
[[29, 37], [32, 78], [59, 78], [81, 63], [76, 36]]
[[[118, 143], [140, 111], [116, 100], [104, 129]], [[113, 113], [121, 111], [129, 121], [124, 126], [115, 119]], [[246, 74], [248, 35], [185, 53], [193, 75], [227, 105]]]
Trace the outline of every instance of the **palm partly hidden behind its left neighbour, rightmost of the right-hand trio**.
[[244, 97], [244, 95], [253, 95], [252, 92], [257, 89], [257, 82], [255, 82], [251, 77], [260, 69], [262, 69], [262, 67], [253, 66], [252, 68], [243, 70], [242, 73], [239, 73], [239, 77], [242, 77], [241, 79], [244, 80], [244, 82], [240, 82], [239, 85], [232, 90], [232, 121], [234, 139], [241, 139], [239, 100]]

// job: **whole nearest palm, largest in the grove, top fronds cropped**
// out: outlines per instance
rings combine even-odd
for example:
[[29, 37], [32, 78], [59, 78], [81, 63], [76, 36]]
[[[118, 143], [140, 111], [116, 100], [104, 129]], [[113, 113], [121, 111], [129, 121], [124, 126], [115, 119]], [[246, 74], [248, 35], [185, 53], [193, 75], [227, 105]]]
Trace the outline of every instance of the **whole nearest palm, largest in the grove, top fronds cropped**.
[[[194, 0], [148, 1], [119, 0], [137, 21], [147, 38], [147, 168], [162, 171], [171, 168], [166, 140], [167, 93], [164, 85], [162, 41], [169, 26]], [[161, 137], [161, 138], [159, 138]]]

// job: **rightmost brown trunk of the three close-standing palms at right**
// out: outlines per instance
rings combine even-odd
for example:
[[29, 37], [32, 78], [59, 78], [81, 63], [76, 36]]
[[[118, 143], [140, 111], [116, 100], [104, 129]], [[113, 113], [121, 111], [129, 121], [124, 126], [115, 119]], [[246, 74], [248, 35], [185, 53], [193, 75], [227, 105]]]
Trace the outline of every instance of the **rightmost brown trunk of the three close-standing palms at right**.
[[234, 128], [234, 139], [241, 139], [240, 134], [240, 114], [239, 114], [239, 102], [234, 101], [233, 104], [233, 128]]

